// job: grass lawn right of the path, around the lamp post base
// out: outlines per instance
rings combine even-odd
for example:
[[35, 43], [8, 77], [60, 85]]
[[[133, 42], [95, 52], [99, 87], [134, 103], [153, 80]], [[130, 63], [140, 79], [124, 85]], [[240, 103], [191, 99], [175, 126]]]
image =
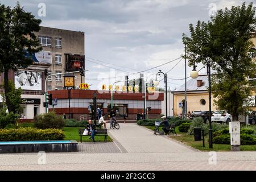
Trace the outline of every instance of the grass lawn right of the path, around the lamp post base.
[[[155, 126], [145, 126], [148, 129], [151, 129], [154, 131]], [[159, 127], [159, 131], [162, 130], [162, 127]], [[175, 131], [177, 133], [176, 135], [170, 135], [170, 138], [175, 139], [179, 142], [182, 142], [188, 146], [191, 146], [193, 148], [196, 148], [201, 151], [231, 151], [230, 150], [230, 144], [214, 144], [213, 148], [209, 149], [209, 143], [208, 143], [208, 136], [205, 136], [205, 147], [203, 147], [203, 141], [195, 141], [193, 135], [188, 135], [187, 133], [181, 133], [178, 128], [175, 128]], [[241, 151], [256, 151], [256, 145], [241, 145], [240, 146]]]

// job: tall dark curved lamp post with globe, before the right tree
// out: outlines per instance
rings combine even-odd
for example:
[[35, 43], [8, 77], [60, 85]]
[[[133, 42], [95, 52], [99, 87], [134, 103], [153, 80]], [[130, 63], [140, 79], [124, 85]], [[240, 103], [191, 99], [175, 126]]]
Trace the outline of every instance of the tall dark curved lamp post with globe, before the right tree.
[[[210, 87], [210, 61], [205, 59], [204, 57], [197, 57], [197, 59], [204, 59], [207, 61], [207, 73], [208, 73], [208, 82], [209, 82], [209, 148], [212, 148], [212, 93], [211, 93], [211, 87]], [[196, 62], [195, 60], [195, 62]], [[191, 77], [192, 78], [197, 78], [198, 77], [198, 72], [196, 71], [195, 63], [193, 67], [193, 71], [191, 72]]]

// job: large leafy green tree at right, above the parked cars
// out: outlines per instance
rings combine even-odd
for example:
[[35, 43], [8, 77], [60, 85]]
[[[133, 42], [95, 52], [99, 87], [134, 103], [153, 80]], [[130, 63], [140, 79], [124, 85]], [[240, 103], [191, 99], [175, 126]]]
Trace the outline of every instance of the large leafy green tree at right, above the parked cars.
[[209, 60], [217, 72], [211, 81], [214, 97], [218, 98], [214, 104], [232, 114], [234, 121], [249, 110], [245, 105], [255, 91], [255, 82], [248, 80], [256, 74], [255, 62], [248, 54], [254, 46], [250, 38], [255, 27], [255, 7], [253, 3], [246, 7], [244, 2], [230, 10], [218, 10], [208, 23], [198, 21], [195, 28], [189, 24], [191, 36], [183, 34], [189, 65], [195, 60], [203, 64]]

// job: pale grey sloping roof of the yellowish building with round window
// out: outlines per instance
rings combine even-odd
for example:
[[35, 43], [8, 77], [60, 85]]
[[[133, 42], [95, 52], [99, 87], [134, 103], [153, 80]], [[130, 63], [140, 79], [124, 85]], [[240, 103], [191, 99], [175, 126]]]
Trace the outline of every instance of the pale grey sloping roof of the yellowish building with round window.
[[[200, 87], [197, 87], [197, 80], [202, 80], [203, 84]], [[208, 84], [208, 76], [207, 75], [199, 75], [197, 78], [187, 81], [187, 91], [207, 91], [209, 84]], [[184, 92], [185, 91], [185, 84], [181, 85], [180, 87], [176, 88], [172, 92]]]

